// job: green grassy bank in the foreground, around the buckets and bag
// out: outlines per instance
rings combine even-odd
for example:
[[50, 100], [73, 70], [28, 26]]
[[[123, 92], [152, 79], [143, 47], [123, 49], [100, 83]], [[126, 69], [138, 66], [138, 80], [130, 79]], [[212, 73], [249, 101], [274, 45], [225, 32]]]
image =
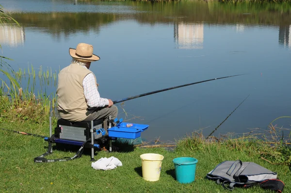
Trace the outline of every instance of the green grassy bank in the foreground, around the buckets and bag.
[[[27, 121], [1, 122], [0, 128], [13, 129], [48, 136], [48, 122], [32, 124]], [[33, 132], [34, 131], [34, 132]], [[48, 142], [42, 138], [24, 136], [0, 130], [0, 192], [60, 192], [60, 193], [226, 193], [222, 186], [206, 179], [206, 174], [225, 160], [253, 161], [278, 173], [285, 182], [284, 192], [291, 192], [291, 172], [288, 165], [275, 165], [261, 159], [260, 150], [271, 151], [258, 141], [226, 140], [207, 143], [198, 139], [178, 141], [175, 150], [136, 147], [129, 152], [96, 152], [95, 159], [115, 157], [123, 166], [110, 171], [97, 171], [91, 167], [90, 154], [75, 160], [55, 163], [34, 163], [33, 158], [46, 152]], [[122, 150], [122, 149], [121, 149]], [[54, 150], [48, 158], [72, 157], [75, 151]], [[140, 155], [158, 153], [164, 156], [160, 180], [148, 182], [142, 178]], [[198, 159], [195, 181], [180, 184], [175, 180], [173, 158]], [[259, 187], [236, 188], [233, 193], [266, 193]]]

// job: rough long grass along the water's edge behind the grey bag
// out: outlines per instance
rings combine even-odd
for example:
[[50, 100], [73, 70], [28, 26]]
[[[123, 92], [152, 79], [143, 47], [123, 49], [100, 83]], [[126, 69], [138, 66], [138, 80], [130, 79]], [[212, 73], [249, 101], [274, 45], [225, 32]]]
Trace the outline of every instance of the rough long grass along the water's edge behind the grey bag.
[[[288, 116], [279, 117], [291, 118]], [[272, 123], [274, 123], [274, 121]], [[205, 151], [211, 152], [228, 150], [240, 151], [249, 155], [259, 154], [259, 158], [275, 165], [291, 165], [291, 128], [284, 128], [270, 123], [266, 129], [254, 128], [248, 133], [227, 133], [218, 137], [204, 137], [201, 130], [188, 134], [185, 138], [177, 140], [178, 151]], [[289, 135], [284, 136], [283, 134]], [[165, 144], [162, 144], [165, 146]]]

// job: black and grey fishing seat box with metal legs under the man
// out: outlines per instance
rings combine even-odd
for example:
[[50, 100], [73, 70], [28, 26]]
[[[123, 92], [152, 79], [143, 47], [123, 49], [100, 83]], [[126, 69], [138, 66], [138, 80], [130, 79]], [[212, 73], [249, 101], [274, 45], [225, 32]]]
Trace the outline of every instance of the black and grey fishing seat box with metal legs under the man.
[[[109, 127], [113, 120], [109, 117]], [[94, 121], [81, 121], [81, 122], [69, 122], [65, 119], [59, 119], [57, 121], [57, 127], [54, 129], [54, 134], [51, 134], [51, 117], [49, 118], [49, 132], [50, 138], [46, 137], [45, 140], [49, 142], [48, 151], [34, 158], [34, 162], [55, 162], [55, 161], [67, 161], [75, 158], [80, 158], [85, 147], [91, 148], [91, 161], [94, 161], [95, 149], [100, 149], [100, 144], [105, 143], [109, 140], [109, 152], [112, 151], [112, 140], [117, 138], [109, 137], [103, 128], [103, 119]], [[61, 159], [47, 159], [45, 156], [52, 153], [52, 144], [68, 144], [81, 146], [79, 151], [72, 158], [61, 158]]]

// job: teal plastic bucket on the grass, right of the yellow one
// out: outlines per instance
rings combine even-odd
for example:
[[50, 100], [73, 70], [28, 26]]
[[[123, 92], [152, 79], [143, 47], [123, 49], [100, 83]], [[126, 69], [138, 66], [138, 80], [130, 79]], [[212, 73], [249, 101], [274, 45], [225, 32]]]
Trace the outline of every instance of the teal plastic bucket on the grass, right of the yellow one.
[[195, 158], [175, 158], [173, 159], [175, 166], [176, 180], [182, 184], [191, 183], [195, 180], [196, 163]]

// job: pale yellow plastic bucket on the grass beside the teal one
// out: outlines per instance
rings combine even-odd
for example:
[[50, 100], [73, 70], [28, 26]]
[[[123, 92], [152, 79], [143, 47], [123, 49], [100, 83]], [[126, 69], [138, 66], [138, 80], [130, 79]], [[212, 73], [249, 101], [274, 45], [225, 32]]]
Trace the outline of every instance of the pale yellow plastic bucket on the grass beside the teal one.
[[143, 178], [146, 181], [158, 181], [161, 175], [163, 156], [160, 154], [142, 154]]

